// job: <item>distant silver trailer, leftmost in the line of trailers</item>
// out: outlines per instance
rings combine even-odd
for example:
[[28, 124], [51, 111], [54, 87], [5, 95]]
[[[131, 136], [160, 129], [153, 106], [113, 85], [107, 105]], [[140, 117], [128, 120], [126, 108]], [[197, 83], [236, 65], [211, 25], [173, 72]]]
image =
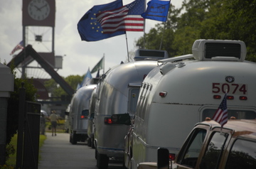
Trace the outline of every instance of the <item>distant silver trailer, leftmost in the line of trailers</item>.
[[92, 91], [97, 87], [97, 84], [88, 84], [81, 87], [74, 94], [70, 103], [70, 143], [76, 144], [85, 142], [87, 139], [87, 125], [89, 116], [89, 102]]

